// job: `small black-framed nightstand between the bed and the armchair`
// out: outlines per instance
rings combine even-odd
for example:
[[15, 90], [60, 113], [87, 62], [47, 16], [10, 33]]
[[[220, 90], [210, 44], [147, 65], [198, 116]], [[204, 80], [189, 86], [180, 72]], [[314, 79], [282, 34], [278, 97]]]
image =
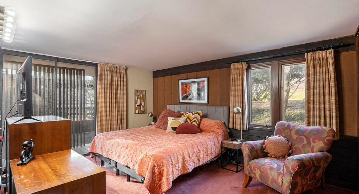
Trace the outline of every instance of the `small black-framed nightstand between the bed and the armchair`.
[[[237, 142], [237, 141], [223, 140], [221, 142], [221, 168], [238, 173], [241, 170], [243, 170], [243, 162], [241, 162], [241, 164], [242, 164], [241, 166], [238, 164], [238, 163], [240, 163], [240, 162], [238, 162], [239, 161], [238, 160], [238, 152], [241, 151], [241, 146], [242, 146], [243, 142], [239, 142], [238, 144], [233, 143], [233, 142]], [[222, 153], [223, 148], [226, 148], [227, 150], [232, 150], [233, 151], [232, 156], [236, 153], [236, 155], [235, 155], [236, 163], [232, 163], [230, 161], [230, 158], [228, 157], [228, 160], [226, 160], [226, 163], [224, 164], [223, 153]], [[225, 168], [225, 166], [227, 166], [227, 165], [235, 165], [237, 167], [237, 170], [235, 171], [235, 170]], [[241, 167], [241, 168], [238, 169], [238, 167]]]

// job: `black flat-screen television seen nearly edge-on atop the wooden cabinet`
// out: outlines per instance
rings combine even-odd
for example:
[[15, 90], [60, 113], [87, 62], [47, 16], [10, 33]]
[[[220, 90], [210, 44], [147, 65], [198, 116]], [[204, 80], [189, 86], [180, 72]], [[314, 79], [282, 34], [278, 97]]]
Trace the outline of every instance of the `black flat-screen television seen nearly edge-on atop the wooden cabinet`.
[[32, 56], [27, 57], [16, 73], [16, 91], [16, 112], [24, 118], [32, 117]]

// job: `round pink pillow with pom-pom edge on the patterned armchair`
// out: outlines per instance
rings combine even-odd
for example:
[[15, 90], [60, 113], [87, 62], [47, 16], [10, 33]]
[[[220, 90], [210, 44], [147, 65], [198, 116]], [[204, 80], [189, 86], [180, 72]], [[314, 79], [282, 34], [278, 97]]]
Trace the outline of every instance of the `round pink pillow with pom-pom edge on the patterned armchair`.
[[264, 152], [267, 152], [269, 157], [288, 158], [289, 154], [293, 152], [291, 150], [292, 143], [281, 135], [266, 137], [263, 143]]

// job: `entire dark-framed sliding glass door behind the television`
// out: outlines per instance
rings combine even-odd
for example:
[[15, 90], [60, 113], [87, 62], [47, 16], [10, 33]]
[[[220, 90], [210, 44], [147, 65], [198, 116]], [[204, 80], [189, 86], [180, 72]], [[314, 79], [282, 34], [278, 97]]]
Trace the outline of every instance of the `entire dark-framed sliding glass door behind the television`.
[[0, 117], [14, 115], [16, 72], [32, 56], [34, 116], [71, 119], [72, 147], [83, 147], [96, 135], [96, 64], [0, 49], [2, 82]]

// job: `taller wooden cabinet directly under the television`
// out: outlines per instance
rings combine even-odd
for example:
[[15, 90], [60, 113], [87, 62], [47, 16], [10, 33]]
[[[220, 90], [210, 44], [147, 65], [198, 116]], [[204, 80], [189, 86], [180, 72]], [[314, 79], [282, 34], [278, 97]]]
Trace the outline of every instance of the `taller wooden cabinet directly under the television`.
[[[36, 116], [41, 120], [22, 117], [7, 118], [9, 131], [9, 159], [20, 158], [22, 143], [33, 139], [33, 156], [71, 149], [71, 120], [58, 116]], [[15, 123], [15, 124], [14, 124]]]

